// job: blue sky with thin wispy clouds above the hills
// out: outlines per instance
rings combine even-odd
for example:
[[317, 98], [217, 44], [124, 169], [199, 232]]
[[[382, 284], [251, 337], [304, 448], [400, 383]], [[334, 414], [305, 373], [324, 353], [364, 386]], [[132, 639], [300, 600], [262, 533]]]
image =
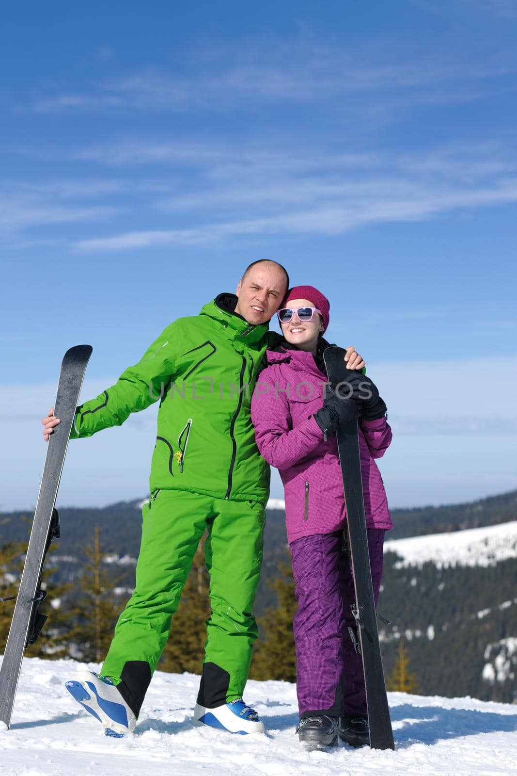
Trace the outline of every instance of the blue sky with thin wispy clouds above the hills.
[[[393, 506], [517, 487], [516, 33], [511, 0], [3, 9], [0, 508], [70, 345], [90, 398], [257, 258], [364, 354]], [[61, 503], [145, 495], [154, 423], [71, 445]]]

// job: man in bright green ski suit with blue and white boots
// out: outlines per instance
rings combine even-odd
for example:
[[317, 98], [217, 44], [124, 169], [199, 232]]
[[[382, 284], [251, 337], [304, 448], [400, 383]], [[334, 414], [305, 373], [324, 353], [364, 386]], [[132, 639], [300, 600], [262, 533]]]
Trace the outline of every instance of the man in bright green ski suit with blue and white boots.
[[[108, 735], [133, 731], [205, 530], [212, 611], [195, 719], [233, 733], [264, 731], [242, 700], [257, 639], [252, 607], [270, 474], [250, 402], [264, 352], [278, 336], [268, 323], [288, 282], [276, 262], [253, 262], [236, 295], [220, 294], [201, 314], [175, 320], [114, 386], [77, 409], [71, 438], [120, 425], [160, 401], [135, 590], [100, 677], [81, 671], [66, 683]], [[43, 418], [46, 440], [59, 422], [52, 412]]]

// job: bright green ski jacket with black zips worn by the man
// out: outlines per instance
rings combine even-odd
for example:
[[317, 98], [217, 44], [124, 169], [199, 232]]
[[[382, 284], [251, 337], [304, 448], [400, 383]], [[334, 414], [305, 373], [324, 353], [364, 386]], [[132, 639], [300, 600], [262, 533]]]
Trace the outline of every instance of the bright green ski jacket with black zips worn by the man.
[[195, 317], [178, 318], [114, 386], [78, 407], [71, 439], [121, 425], [156, 401], [150, 492], [190, 490], [266, 504], [270, 470], [260, 456], [250, 404], [267, 345], [277, 337], [233, 314], [220, 294]]

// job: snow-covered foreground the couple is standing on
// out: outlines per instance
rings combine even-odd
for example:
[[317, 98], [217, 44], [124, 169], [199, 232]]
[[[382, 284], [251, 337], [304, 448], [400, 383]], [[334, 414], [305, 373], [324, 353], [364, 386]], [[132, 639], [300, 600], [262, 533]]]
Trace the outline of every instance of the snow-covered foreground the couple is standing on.
[[390, 693], [395, 752], [344, 745], [307, 752], [295, 736], [293, 684], [250, 681], [246, 702], [267, 734], [232, 736], [192, 722], [198, 677], [157, 672], [135, 734], [118, 740], [106, 738], [65, 690], [77, 665], [23, 660], [11, 729], [0, 729], [2, 776], [517, 774], [517, 705]]

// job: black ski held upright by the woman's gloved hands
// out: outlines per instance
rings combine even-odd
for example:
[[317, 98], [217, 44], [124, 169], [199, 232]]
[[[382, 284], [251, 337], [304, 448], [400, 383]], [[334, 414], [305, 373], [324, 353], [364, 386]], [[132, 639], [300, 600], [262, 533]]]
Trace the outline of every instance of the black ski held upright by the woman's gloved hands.
[[[345, 353], [343, 348], [335, 346], [326, 348], [323, 353], [327, 376], [333, 389], [339, 386], [339, 383], [346, 382]], [[360, 651], [363, 660], [370, 747], [395, 749], [371, 581], [357, 421], [353, 420], [338, 426], [336, 438], [343, 476], [353, 584], [356, 591], [353, 616], [356, 620], [357, 638], [354, 646], [357, 651]], [[352, 636], [354, 636], [353, 632], [350, 633], [350, 637]]]

